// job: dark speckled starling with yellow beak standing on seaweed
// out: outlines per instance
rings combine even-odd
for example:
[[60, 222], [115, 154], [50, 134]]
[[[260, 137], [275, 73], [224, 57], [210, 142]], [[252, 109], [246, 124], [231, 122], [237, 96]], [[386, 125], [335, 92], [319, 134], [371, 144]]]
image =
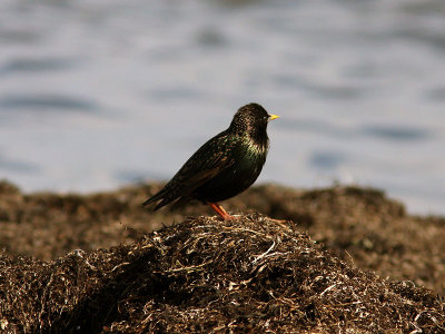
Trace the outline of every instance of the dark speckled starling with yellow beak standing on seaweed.
[[239, 108], [228, 129], [204, 144], [144, 206], [156, 203], [157, 210], [197, 199], [225, 220], [233, 218], [218, 202], [243, 193], [258, 178], [269, 148], [267, 122], [278, 117], [257, 104]]

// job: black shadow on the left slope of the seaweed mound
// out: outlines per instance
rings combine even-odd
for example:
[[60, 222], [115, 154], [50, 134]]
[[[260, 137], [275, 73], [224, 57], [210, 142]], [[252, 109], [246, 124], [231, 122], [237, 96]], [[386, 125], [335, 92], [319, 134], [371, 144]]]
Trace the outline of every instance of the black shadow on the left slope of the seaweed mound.
[[135, 299], [141, 299], [141, 304], [147, 299], [172, 304], [184, 301], [186, 296], [166, 293], [171, 282], [159, 271], [159, 250], [152, 247], [145, 250], [130, 262], [122, 258], [120, 265], [97, 283], [92, 293], [87, 292], [70, 312], [52, 324], [51, 332], [101, 333], [122, 314], [127, 314], [127, 320], [131, 318], [130, 310], [119, 310], [128, 299], [132, 299], [132, 304], [137, 303]]

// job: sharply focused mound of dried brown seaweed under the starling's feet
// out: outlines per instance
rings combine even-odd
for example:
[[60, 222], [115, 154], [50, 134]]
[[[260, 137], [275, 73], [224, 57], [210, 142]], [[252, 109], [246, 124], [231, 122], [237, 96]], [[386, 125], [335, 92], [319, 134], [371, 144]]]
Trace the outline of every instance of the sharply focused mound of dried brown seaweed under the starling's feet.
[[0, 258], [7, 333], [439, 333], [445, 303], [258, 214], [190, 218], [110, 249]]

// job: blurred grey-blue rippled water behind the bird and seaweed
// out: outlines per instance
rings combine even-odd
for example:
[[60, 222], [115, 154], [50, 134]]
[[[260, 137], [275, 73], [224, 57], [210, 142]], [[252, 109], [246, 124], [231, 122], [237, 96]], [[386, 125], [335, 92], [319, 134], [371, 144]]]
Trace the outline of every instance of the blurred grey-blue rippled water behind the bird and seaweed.
[[258, 181], [445, 214], [444, 59], [443, 0], [2, 0], [0, 177], [168, 179], [257, 101], [281, 116]]

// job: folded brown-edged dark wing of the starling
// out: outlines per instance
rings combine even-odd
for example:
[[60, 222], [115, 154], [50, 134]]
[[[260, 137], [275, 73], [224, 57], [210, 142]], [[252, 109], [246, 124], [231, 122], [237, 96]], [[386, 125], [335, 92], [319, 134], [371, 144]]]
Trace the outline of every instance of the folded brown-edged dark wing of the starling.
[[202, 145], [171, 180], [144, 205], [160, 200], [155, 207], [158, 209], [179, 197], [188, 197], [195, 189], [230, 167], [235, 163], [230, 150], [235, 148], [236, 143], [225, 141], [227, 135], [221, 132]]

